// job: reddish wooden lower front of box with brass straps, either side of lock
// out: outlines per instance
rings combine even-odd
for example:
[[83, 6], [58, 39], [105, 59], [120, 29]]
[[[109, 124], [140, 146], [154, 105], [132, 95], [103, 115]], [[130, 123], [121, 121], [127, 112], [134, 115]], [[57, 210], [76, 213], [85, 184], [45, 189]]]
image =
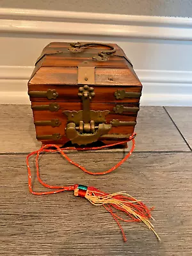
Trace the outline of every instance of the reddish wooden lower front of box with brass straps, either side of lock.
[[[37, 138], [40, 141], [68, 141], [65, 136], [68, 117], [63, 111], [80, 111], [82, 110], [82, 104], [81, 102], [53, 102], [51, 104], [56, 106], [55, 111], [49, 109], [50, 102], [32, 102], [31, 104]], [[90, 109], [94, 111], [109, 111], [108, 115], [105, 116], [106, 124], [112, 124], [108, 134], [132, 134], [136, 125], [139, 104], [124, 103], [118, 105], [115, 103], [101, 104], [91, 102]], [[120, 109], [118, 113], [116, 113], [117, 109]], [[57, 135], [58, 138], [56, 138]]]

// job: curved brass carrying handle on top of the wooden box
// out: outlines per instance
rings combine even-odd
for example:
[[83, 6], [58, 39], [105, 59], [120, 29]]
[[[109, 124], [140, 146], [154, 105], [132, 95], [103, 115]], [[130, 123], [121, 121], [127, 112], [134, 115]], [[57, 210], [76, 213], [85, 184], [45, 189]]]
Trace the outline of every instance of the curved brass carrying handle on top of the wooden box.
[[70, 43], [70, 47], [71, 49], [73, 48], [81, 48], [81, 47], [92, 47], [92, 46], [95, 46], [95, 45], [102, 45], [102, 46], [106, 46], [106, 47], [109, 47], [110, 50], [106, 50], [106, 51], [101, 51], [101, 52], [98, 52], [98, 56], [93, 56], [93, 60], [108, 60], [108, 58], [106, 57], [106, 55], [108, 54], [112, 54], [114, 52], [116, 52], [116, 49], [115, 47], [113, 47], [112, 45], [109, 45], [109, 44], [102, 44], [102, 43]]

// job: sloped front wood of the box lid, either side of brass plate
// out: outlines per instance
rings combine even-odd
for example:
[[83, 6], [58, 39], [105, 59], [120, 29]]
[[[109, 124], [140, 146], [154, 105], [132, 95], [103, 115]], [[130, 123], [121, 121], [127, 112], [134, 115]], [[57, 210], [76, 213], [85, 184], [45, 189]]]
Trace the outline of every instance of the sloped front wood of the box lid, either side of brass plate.
[[[58, 58], [56, 60], [58, 60]], [[41, 67], [29, 81], [30, 88], [33, 88], [35, 84], [51, 84], [52, 86], [54, 84], [60, 84], [60, 86], [63, 84], [67, 84], [68, 86], [77, 84], [78, 71], [76, 65], [73, 65], [71, 64], [67, 67], [63, 67], [64, 65], [61, 65], [61, 67]], [[94, 63], [92, 65], [94, 67]], [[136, 77], [134, 73], [132, 74], [131, 70], [128, 68], [115, 68], [115, 64], [113, 68], [95, 68], [94, 86], [100, 85], [141, 87], [138, 77]]]

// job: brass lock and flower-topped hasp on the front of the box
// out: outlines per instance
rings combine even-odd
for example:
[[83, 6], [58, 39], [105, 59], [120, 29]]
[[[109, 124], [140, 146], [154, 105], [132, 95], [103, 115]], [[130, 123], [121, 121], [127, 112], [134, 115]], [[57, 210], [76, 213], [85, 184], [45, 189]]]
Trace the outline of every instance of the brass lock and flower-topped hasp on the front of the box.
[[68, 118], [65, 134], [72, 143], [86, 145], [97, 141], [100, 136], [110, 131], [112, 125], [106, 124], [105, 120], [105, 116], [110, 111], [90, 110], [90, 100], [95, 96], [93, 87], [88, 85], [79, 87], [78, 95], [83, 102], [83, 110], [63, 111]]

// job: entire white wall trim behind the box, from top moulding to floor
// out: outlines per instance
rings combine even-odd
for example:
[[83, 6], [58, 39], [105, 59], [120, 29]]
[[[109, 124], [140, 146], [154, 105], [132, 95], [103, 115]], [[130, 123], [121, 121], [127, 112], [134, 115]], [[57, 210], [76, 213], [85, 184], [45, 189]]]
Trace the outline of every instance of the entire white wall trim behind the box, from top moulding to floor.
[[0, 8], [0, 103], [29, 104], [27, 82], [49, 42], [114, 42], [143, 83], [142, 105], [192, 106], [192, 19]]

